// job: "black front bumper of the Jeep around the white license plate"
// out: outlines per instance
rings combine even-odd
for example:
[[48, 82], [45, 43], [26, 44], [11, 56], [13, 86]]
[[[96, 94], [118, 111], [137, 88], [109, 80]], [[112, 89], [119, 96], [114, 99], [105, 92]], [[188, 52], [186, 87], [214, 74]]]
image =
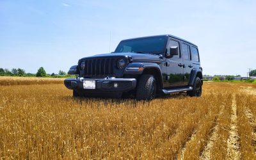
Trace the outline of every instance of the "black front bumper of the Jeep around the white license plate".
[[[95, 89], [86, 89], [84, 88], [83, 82], [95, 81]], [[114, 84], [117, 84], [116, 86]], [[136, 79], [134, 78], [109, 78], [109, 79], [84, 79], [83, 77], [67, 78], [64, 80], [65, 86], [70, 90], [88, 90], [89, 92], [93, 91], [119, 91], [119, 92], [128, 92], [136, 88]]]

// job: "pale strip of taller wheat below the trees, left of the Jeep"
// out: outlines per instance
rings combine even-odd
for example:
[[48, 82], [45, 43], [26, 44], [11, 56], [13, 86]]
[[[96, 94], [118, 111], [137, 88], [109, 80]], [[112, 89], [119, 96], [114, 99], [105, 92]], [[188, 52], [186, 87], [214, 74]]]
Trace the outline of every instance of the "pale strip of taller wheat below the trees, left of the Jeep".
[[30, 84], [63, 84], [63, 78], [46, 77], [0, 77], [0, 86]]

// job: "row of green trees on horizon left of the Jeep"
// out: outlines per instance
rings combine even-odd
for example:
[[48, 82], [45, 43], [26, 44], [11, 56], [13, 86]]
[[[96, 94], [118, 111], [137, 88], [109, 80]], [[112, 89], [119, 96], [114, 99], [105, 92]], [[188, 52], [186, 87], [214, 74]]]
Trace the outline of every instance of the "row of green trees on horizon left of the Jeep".
[[20, 77], [68, 77], [66, 72], [63, 70], [59, 70], [58, 74], [47, 74], [44, 67], [38, 68], [36, 74], [26, 73], [26, 71], [22, 68], [12, 68], [9, 70], [8, 68], [0, 68], [0, 76], [20, 76]]

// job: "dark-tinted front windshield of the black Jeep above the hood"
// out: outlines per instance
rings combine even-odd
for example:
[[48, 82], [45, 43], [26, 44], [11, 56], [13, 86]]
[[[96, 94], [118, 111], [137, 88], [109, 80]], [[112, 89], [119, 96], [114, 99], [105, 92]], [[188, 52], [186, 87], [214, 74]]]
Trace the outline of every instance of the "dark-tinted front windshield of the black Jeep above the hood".
[[124, 40], [116, 47], [115, 52], [147, 52], [163, 53], [165, 50], [167, 36], [154, 36], [148, 38], [138, 38]]

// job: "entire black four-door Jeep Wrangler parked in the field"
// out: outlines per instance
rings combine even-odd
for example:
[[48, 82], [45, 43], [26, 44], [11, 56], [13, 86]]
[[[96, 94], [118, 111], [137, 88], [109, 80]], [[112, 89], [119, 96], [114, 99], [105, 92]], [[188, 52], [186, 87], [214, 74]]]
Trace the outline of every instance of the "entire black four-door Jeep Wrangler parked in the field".
[[65, 86], [74, 97], [154, 99], [156, 95], [202, 94], [202, 67], [198, 47], [172, 35], [122, 40], [111, 54], [82, 58], [68, 74]]

